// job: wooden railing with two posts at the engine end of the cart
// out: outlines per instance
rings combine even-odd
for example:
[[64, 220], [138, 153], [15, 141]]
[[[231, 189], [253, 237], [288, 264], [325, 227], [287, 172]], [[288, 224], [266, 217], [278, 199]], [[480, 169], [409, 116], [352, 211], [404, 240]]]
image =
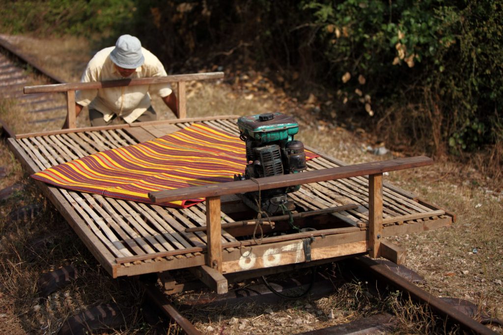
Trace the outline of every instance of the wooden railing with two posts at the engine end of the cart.
[[368, 175], [369, 255], [376, 258], [380, 256], [380, 244], [383, 233], [383, 173], [431, 164], [433, 164], [433, 160], [425, 156], [399, 158], [381, 162], [347, 165], [323, 170], [265, 177], [256, 179], [255, 181], [241, 180], [216, 185], [161, 190], [150, 192], [148, 196], [150, 200], [157, 203], [202, 197], [206, 198], [206, 234], [208, 238], [208, 256], [206, 264], [221, 273], [222, 244], [220, 239], [220, 196]]

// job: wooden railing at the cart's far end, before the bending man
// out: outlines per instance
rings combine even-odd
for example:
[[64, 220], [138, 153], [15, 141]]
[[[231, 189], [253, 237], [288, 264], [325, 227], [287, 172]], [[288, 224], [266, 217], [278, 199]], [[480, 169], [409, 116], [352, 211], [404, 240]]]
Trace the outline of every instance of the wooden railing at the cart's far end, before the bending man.
[[152, 78], [135, 78], [135, 79], [118, 79], [95, 82], [76, 82], [53, 85], [26, 86], [24, 93], [66, 93], [66, 108], [68, 118], [68, 128], [76, 128], [75, 116], [75, 91], [86, 89], [100, 89], [119, 86], [139, 86], [152, 85], [162, 83], [176, 83], [178, 91], [178, 118], [185, 119], [187, 117], [187, 98], [185, 94], [185, 83], [193, 80], [209, 80], [223, 78], [223, 72], [207, 72], [207, 73], [191, 73], [191, 74], [175, 74], [165, 77]]

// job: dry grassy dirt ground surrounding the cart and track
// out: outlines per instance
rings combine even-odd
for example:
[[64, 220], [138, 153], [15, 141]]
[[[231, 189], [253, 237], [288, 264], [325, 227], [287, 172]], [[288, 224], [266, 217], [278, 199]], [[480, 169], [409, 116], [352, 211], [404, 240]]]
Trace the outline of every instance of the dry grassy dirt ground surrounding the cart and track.
[[[74, 38], [6, 38], [24, 52], [41, 59], [49, 71], [68, 81], [78, 80], [93, 53], [89, 43]], [[206, 70], [212, 69], [209, 64]], [[296, 117], [300, 124], [301, 141], [347, 163], [407, 156], [407, 152], [389, 151], [384, 155], [374, 155], [370, 149], [375, 147], [366, 140], [368, 137], [364, 131], [351, 132], [336, 121], [320, 121], [311, 108], [313, 97], [297, 101], [281, 88], [274, 87], [260, 73], [249, 70], [226, 73], [226, 76], [232, 76], [234, 80], [189, 85], [189, 117], [246, 115], [278, 110]], [[154, 100], [154, 107], [160, 118], [173, 118], [158, 99]], [[85, 125], [86, 119], [79, 118], [78, 122], [81, 126]], [[54, 129], [60, 127], [56, 123], [52, 126]], [[18, 133], [30, 131], [26, 124], [18, 124], [15, 128]], [[82, 306], [93, 306], [110, 298], [127, 301], [130, 299], [128, 296], [139, 294], [120, 293], [120, 284], [111, 280], [83, 245], [75, 241], [76, 236], [36, 191], [5, 143], [0, 144], [0, 158], [1, 165], [6, 167], [6, 176], [0, 179], [0, 189], [18, 183], [25, 190], [15, 199], [4, 201], [0, 208], [4, 217], [0, 220], [0, 255], [3, 255], [0, 258], [3, 267], [0, 269], [0, 332], [51, 332], [49, 330], [57, 330], [58, 322], [65, 316], [81, 310]], [[480, 180], [484, 182], [477, 182]], [[467, 299], [493, 317], [503, 318], [503, 226], [498, 219], [503, 216], [503, 192], [479, 186], [488, 184], [485, 176], [469, 165], [460, 166], [447, 160], [437, 161], [434, 166], [390, 173], [385, 176], [385, 181], [436, 203], [457, 216], [451, 228], [393, 239], [407, 250], [406, 265], [425, 277], [427, 284], [424, 288], [435, 296]], [[7, 218], [13, 210], [29, 203], [41, 204], [49, 210], [42, 210], [40, 215], [22, 224]], [[41, 228], [40, 224], [45, 227]], [[27, 262], [26, 253], [20, 252], [23, 245], [35, 236], [51, 231], [60, 232], [61, 244], [54, 246], [47, 257], [37, 258], [35, 264]], [[57, 295], [40, 303], [36, 299], [34, 285], [37, 275], [65, 265], [67, 261], [82, 265], [87, 271], [83, 276], [93, 280], [77, 281], [75, 287], [60, 293], [63, 296]], [[218, 333], [222, 328], [225, 334], [271, 333], [271, 329], [274, 333], [294, 333], [347, 322], [364, 315], [363, 311], [372, 301], [358, 300], [358, 295], [355, 295], [358, 291], [356, 286], [344, 286], [333, 297], [318, 301], [246, 306], [238, 313], [216, 310], [191, 315], [197, 327], [206, 333]], [[387, 301], [384, 304], [392, 303]], [[134, 326], [126, 329], [125, 333], [150, 331], [141, 321], [132, 324]], [[421, 333], [424, 328], [406, 329], [407, 332]], [[501, 328], [494, 329], [502, 331]]]

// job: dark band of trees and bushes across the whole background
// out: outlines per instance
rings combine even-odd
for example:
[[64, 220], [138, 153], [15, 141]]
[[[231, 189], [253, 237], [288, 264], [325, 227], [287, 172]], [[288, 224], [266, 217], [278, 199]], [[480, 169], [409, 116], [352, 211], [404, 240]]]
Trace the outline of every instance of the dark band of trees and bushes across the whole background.
[[503, 0], [18, 0], [0, 11], [7, 33], [134, 34], [173, 70], [198, 57], [295, 73], [306, 95], [310, 83], [337, 92], [339, 116], [366, 112], [384, 137], [430, 152], [503, 141]]

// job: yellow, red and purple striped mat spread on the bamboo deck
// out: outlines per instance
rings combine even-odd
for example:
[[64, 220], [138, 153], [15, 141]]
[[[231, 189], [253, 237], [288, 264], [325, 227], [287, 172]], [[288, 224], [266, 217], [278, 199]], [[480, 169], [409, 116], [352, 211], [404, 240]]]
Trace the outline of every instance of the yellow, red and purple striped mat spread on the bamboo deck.
[[[308, 159], [316, 157], [306, 151]], [[152, 203], [162, 189], [232, 181], [246, 165], [244, 142], [203, 124], [140, 144], [110, 149], [32, 175], [48, 184], [107, 197]], [[204, 198], [166, 202], [187, 208]]]

